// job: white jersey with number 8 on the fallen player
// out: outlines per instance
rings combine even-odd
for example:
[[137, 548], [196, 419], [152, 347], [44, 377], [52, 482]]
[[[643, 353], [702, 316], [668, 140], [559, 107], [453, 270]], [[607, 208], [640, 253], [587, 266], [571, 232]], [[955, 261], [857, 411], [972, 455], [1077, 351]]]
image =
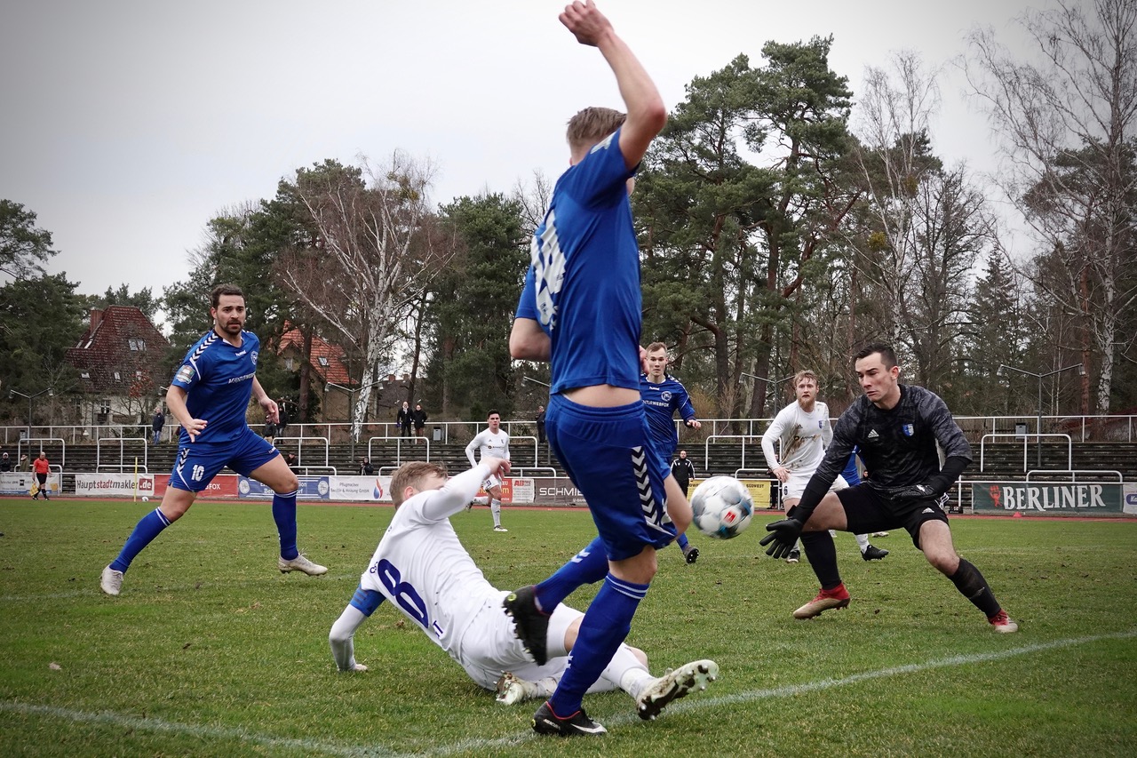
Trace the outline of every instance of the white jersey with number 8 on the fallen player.
[[478, 465], [399, 505], [359, 577], [360, 587], [382, 593], [459, 664], [463, 636], [478, 613], [491, 607], [504, 617], [508, 594], [485, 579], [450, 526], [488, 475]]

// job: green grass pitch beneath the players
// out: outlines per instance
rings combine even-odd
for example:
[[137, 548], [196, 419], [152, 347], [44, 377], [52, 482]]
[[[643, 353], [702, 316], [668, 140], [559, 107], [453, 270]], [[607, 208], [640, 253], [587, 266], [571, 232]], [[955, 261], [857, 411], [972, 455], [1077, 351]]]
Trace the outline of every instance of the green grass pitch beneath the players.
[[[1018, 634], [995, 634], [907, 535], [861, 560], [838, 535], [847, 610], [790, 612], [808, 565], [730, 542], [675, 549], [629, 642], [653, 673], [713, 658], [720, 679], [640, 722], [589, 695], [609, 734], [530, 731], [536, 702], [493, 701], [402, 616], [356, 635], [371, 667], [338, 674], [327, 632], [390, 508], [301, 505], [323, 577], [281, 575], [267, 504], [201, 502], [135, 560], [123, 594], [102, 567], [153, 503], [0, 501], [0, 752], [5, 756], [1101, 756], [1137, 755], [1137, 522], [953, 519]], [[775, 517], [771, 516], [769, 519]], [[454, 518], [491, 583], [546, 576], [595, 530], [587, 512], [485, 509]], [[571, 599], [586, 608], [591, 588]]]

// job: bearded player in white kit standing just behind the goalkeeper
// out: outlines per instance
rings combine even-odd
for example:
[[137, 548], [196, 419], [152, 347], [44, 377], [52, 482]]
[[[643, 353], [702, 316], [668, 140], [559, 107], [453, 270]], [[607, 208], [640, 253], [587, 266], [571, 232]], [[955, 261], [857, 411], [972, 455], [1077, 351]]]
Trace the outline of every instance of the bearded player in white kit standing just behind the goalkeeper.
[[[762, 452], [766, 465], [778, 477], [782, 486], [782, 502], [789, 510], [802, 500], [805, 485], [818, 470], [825, 455], [825, 448], [833, 439], [833, 427], [829, 423], [829, 406], [818, 399], [818, 377], [812, 371], [798, 371], [794, 376], [794, 393], [797, 401], [790, 403], [774, 417], [770, 428], [762, 435]], [[774, 451], [774, 443], [781, 442], [781, 455]], [[840, 476], [833, 480], [831, 492], [845, 489], [848, 483]], [[869, 535], [858, 534], [857, 546], [861, 558], [866, 561], [880, 560], [888, 554], [869, 544]], [[787, 563], [797, 563], [800, 557], [800, 541], [786, 558]]]

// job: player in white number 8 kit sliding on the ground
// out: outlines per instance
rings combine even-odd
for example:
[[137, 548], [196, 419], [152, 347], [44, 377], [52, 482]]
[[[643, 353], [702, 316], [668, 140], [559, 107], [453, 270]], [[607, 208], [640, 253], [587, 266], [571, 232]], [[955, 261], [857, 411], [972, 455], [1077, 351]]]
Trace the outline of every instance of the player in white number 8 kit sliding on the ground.
[[[492, 586], [474, 565], [450, 525], [490, 476], [508, 461], [485, 456], [449, 481], [446, 469], [425, 461], [400, 467], [391, 478], [396, 512], [359, 579], [351, 602], [332, 625], [329, 643], [341, 672], [365, 672], [356, 662], [354, 635], [384, 601], [398, 607], [470, 677], [512, 705], [548, 698], [568, 662], [583, 613], [564, 603], [549, 620], [549, 660], [538, 666], [501, 612], [506, 591]], [[397, 664], [401, 666], [400, 664]], [[713, 661], [694, 661], [654, 678], [642, 651], [621, 645], [590, 692], [622, 689], [637, 701], [641, 718], [655, 718], [671, 701], [703, 689], [717, 675]]]

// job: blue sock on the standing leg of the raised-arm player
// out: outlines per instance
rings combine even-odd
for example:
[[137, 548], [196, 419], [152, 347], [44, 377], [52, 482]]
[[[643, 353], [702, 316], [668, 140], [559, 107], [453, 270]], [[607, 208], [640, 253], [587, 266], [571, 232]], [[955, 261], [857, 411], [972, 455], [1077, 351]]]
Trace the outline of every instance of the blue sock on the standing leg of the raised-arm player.
[[568, 667], [549, 698], [549, 708], [562, 718], [580, 710], [581, 699], [612, 662], [620, 643], [628, 636], [632, 616], [649, 585], [622, 582], [608, 575], [580, 623], [576, 644], [568, 656]]

